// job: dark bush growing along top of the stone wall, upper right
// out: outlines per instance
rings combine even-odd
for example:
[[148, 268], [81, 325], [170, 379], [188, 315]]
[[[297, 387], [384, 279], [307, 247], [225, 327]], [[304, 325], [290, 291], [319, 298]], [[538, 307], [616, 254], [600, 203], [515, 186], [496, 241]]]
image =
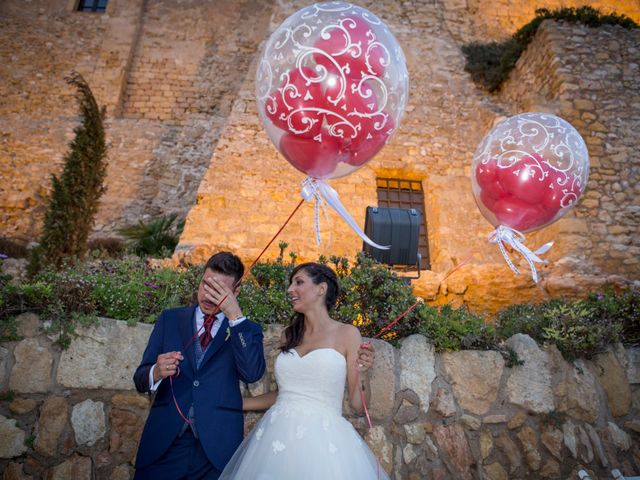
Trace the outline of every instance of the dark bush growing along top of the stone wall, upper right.
[[581, 23], [589, 27], [620, 25], [624, 28], [638, 28], [638, 24], [625, 15], [615, 13], [604, 15], [589, 6], [556, 10], [540, 8], [536, 10], [536, 16], [532, 21], [507, 40], [490, 43], [472, 42], [463, 45], [462, 53], [467, 60], [465, 71], [471, 74], [475, 83], [489, 92], [499, 90], [538, 31], [540, 24], [547, 19]]

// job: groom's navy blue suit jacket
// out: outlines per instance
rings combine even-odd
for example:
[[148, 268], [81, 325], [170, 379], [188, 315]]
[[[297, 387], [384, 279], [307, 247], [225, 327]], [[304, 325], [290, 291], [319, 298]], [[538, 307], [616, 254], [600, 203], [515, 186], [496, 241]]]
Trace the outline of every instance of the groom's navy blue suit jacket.
[[[242, 396], [239, 381], [258, 381], [265, 370], [262, 329], [245, 320], [229, 327], [224, 319], [196, 369], [193, 343], [195, 305], [162, 312], [149, 337], [133, 380], [139, 392], [149, 392], [149, 371], [161, 353], [179, 351], [184, 360], [173, 377], [173, 392], [183, 415], [193, 403], [200, 443], [211, 463], [224, 469], [242, 442]], [[227, 329], [230, 335], [227, 337]], [[186, 351], [185, 351], [186, 347]], [[136, 468], [156, 462], [180, 433], [184, 420], [176, 410], [171, 383], [164, 379], [142, 432]]]

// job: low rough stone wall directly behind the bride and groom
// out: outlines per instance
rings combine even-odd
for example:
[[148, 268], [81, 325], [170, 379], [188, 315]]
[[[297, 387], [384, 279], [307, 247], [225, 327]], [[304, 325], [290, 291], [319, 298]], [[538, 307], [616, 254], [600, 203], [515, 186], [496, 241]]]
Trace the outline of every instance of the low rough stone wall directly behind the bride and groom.
[[[23, 339], [0, 346], [3, 479], [132, 478], [150, 401], [131, 378], [151, 328], [102, 319], [60, 352], [37, 316], [18, 318]], [[265, 332], [268, 372], [246, 395], [274, 388], [280, 332]], [[374, 344], [373, 428], [348, 418], [395, 480], [640, 472], [638, 347], [568, 363], [518, 334], [507, 346], [524, 364], [509, 367], [495, 351], [435, 353], [421, 335]], [[246, 415], [247, 431], [259, 416]]]

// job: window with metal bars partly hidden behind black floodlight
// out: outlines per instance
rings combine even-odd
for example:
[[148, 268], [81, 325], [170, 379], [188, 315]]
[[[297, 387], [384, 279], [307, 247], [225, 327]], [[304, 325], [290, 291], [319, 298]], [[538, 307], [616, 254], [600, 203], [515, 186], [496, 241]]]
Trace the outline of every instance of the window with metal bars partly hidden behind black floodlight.
[[427, 217], [424, 214], [424, 192], [419, 180], [403, 180], [401, 178], [376, 178], [378, 206], [387, 208], [415, 208], [420, 212], [420, 269], [429, 270], [429, 242], [427, 241]]

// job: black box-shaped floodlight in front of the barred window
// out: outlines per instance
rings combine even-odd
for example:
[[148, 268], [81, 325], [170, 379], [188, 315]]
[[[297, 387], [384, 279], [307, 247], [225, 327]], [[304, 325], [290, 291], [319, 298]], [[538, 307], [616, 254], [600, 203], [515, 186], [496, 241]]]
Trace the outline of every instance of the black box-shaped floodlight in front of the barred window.
[[380, 263], [415, 265], [418, 262], [420, 212], [414, 208], [367, 207], [364, 232], [381, 250], [363, 243], [363, 250]]

